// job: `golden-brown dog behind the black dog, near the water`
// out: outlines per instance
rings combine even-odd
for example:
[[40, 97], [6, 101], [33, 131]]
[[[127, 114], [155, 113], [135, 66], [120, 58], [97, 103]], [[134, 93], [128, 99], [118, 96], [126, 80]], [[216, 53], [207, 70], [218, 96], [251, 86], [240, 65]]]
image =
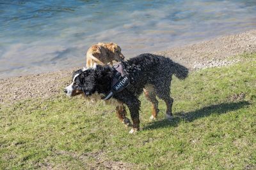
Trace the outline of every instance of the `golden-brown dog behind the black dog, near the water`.
[[92, 67], [93, 64], [113, 65], [113, 60], [124, 60], [120, 46], [116, 43], [97, 43], [91, 46], [86, 53], [86, 67]]

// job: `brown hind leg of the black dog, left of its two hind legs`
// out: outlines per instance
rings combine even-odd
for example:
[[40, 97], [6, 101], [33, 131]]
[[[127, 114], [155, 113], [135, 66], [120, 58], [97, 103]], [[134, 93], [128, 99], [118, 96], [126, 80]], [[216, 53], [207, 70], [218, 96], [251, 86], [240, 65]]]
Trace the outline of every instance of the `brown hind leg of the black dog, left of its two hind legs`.
[[153, 90], [143, 89], [143, 91], [148, 101], [152, 103], [152, 115], [149, 119], [155, 120], [157, 118], [157, 113], [159, 112], [158, 101], [156, 99], [156, 92], [154, 91], [154, 89]]

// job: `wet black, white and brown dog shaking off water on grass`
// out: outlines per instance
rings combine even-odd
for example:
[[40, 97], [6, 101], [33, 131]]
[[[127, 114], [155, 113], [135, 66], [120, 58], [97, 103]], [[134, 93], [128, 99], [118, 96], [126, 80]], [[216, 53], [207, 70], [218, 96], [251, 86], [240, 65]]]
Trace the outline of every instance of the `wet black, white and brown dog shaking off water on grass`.
[[[152, 117], [156, 118], [159, 111], [156, 99], [158, 96], [166, 103], [166, 118], [172, 118], [173, 99], [170, 97], [172, 75], [184, 79], [188, 76], [188, 69], [171, 59], [151, 53], [143, 53], [121, 62], [121, 65], [124, 75], [119, 76], [119, 81], [115, 83], [113, 80], [116, 79], [118, 71], [114, 67], [97, 65], [93, 68], [75, 71], [72, 83], [64, 91], [67, 96], [84, 94], [85, 97], [92, 99], [111, 98], [117, 101], [116, 106], [127, 105], [133, 123], [130, 133], [135, 133], [140, 129], [138, 97], [144, 88], [145, 95], [153, 106]], [[123, 84], [125, 87], [120, 87]]]

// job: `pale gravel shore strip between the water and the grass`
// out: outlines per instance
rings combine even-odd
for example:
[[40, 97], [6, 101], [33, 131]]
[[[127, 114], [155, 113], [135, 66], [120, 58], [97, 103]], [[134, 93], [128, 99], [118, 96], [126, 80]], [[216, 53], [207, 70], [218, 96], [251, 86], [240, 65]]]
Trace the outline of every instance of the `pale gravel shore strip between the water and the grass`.
[[[170, 57], [190, 70], [195, 70], [234, 64], [238, 60], [227, 60], [228, 57], [252, 52], [256, 52], [256, 29], [152, 53]], [[72, 71], [77, 68], [79, 67], [0, 78], [0, 89], [3, 89], [0, 94], [0, 104], [36, 97], [46, 99], [56, 96], [61, 93], [63, 87], [68, 85]]]

